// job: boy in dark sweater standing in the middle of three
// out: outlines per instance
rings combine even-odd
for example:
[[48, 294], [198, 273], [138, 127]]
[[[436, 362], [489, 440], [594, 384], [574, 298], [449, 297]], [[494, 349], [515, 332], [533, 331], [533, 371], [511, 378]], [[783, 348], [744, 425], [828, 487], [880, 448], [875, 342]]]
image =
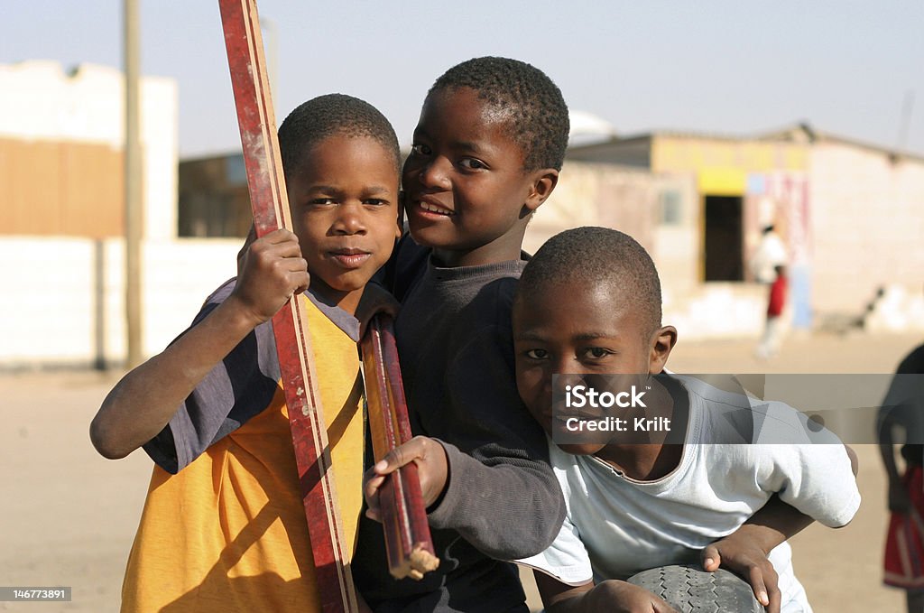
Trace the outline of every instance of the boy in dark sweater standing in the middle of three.
[[403, 185], [410, 236], [390, 285], [411, 428], [380, 461], [414, 461], [440, 568], [421, 582], [387, 575], [381, 525], [363, 521], [353, 561], [376, 611], [527, 611], [517, 570], [499, 562], [548, 546], [564, 501], [541, 428], [517, 396], [510, 313], [529, 217], [565, 156], [567, 106], [541, 70], [480, 57], [427, 94]]

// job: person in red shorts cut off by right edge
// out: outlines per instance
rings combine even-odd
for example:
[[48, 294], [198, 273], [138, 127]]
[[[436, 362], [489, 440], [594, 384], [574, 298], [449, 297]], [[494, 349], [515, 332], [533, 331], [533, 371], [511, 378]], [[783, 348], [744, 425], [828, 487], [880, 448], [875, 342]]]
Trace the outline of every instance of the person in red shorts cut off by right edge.
[[[882, 582], [906, 590], [908, 613], [924, 613], [924, 345], [898, 365], [878, 421], [892, 511]], [[901, 475], [895, 462], [895, 430], [904, 431]]]

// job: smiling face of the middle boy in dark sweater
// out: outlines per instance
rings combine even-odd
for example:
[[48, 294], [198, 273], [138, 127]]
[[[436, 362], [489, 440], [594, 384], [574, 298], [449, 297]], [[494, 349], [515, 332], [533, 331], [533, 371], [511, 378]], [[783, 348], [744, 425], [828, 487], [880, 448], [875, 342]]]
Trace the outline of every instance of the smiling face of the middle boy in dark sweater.
[[526, 217], [554, 187], [557, 171], [524, 171], [510, 119], [469, 88], [423, 104], [404, 166], [405, 207], [411, 235], [444, 264], [517, 259]]

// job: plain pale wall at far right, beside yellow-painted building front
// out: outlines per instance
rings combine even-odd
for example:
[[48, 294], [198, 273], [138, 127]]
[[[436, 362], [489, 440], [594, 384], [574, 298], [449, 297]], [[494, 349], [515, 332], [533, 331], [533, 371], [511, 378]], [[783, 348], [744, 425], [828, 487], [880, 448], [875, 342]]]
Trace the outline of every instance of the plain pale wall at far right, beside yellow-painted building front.
[[889, 308], [921, 329], [912, 320], [924, 300], [924, 163], [838, 142], [810, 155], [814, 308], [859, 313], [885, 286]]

